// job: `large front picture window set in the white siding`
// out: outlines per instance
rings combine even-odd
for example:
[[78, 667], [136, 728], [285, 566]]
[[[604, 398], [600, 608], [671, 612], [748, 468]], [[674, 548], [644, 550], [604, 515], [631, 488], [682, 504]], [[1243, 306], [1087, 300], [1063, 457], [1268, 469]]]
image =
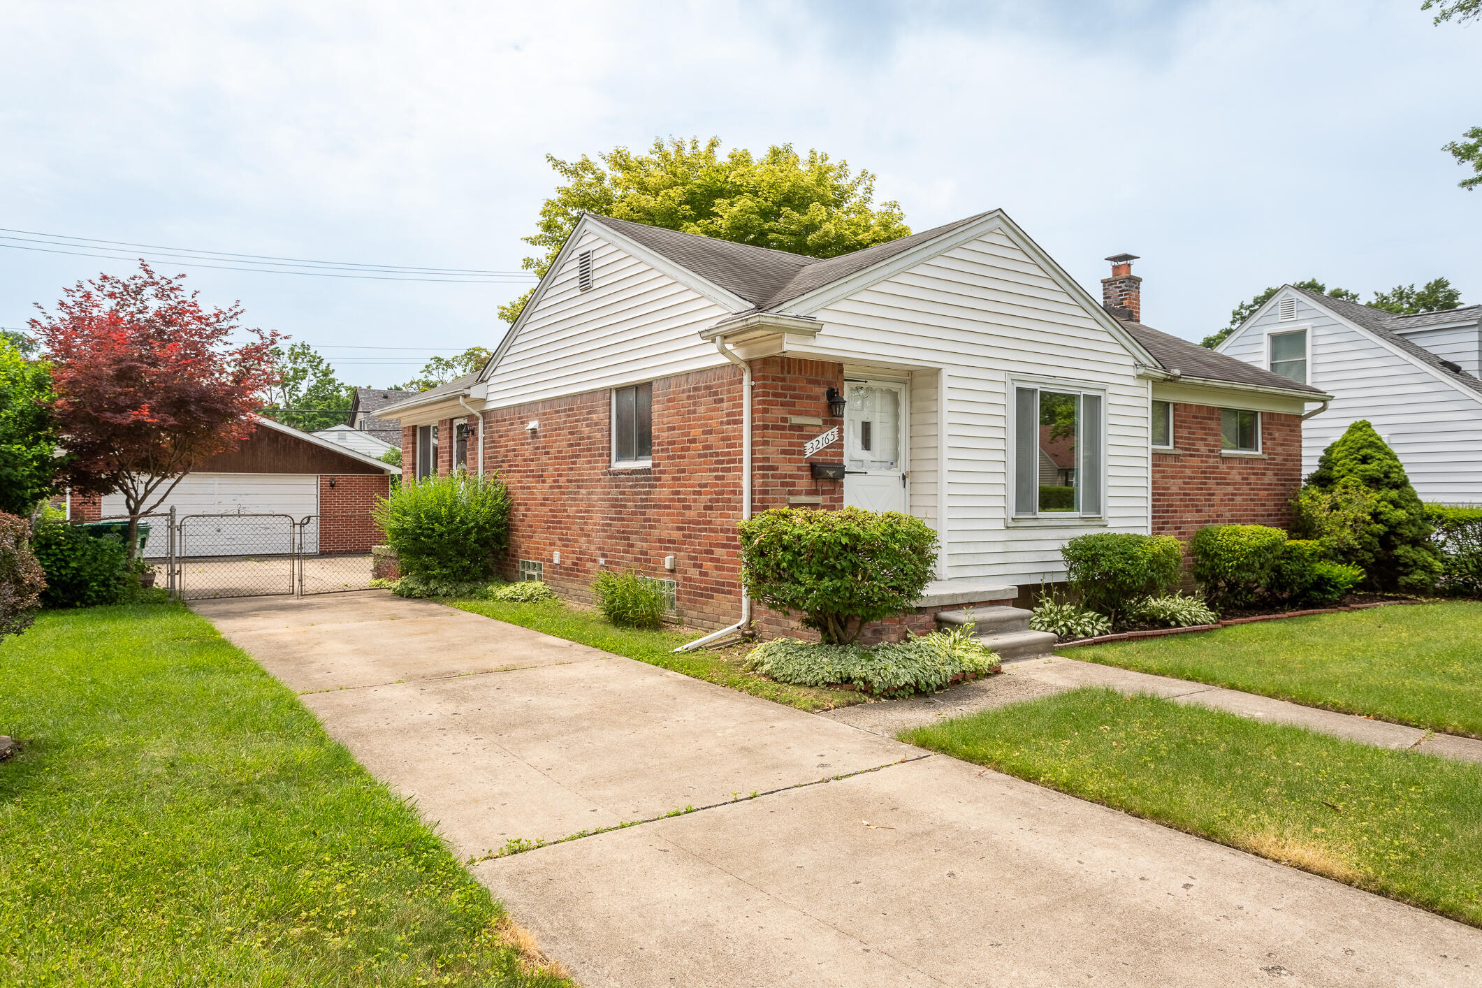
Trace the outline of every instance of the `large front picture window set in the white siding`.
[[1100, 515], [1106, 433], [1098, 391], [1014, 388], [1014, 514]]

